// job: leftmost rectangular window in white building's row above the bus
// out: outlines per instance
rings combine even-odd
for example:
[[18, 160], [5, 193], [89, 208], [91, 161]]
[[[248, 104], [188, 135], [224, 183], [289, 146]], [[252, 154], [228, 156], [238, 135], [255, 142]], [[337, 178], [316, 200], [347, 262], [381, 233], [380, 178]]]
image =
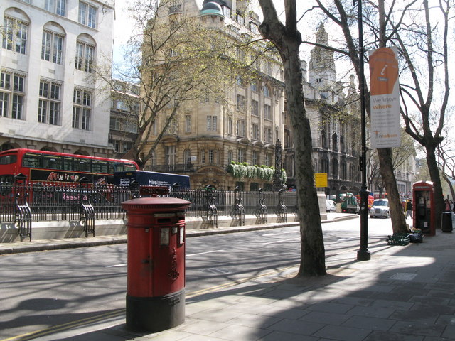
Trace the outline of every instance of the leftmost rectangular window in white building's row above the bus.
[[[11, 80], [13, 84], [11, 85]], [[25, 77], [6, 72], [0, 73], [0, 110], [2, 117], [24, 119], [23, 99], [25, 97]], [[11, 100], [11, 107], [10, 107]]]

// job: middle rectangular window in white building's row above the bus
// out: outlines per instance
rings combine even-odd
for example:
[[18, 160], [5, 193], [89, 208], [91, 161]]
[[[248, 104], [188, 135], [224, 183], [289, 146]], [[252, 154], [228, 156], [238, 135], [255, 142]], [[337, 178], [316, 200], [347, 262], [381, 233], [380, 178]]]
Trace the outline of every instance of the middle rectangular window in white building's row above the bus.
[[38, 122], [54, 126], [60, 124], [61, 85], [53, 82], [40, 82], [38, 99]]

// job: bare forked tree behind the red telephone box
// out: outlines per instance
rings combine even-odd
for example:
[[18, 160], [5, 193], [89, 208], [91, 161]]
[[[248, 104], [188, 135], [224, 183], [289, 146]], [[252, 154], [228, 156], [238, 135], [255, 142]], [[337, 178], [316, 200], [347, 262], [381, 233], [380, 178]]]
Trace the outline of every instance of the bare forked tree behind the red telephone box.
[[[410, 22], [406, 26], [400, 25], [400, 21], [393, 23], [391, 38], [400, 48], [400, 54], [405, 59], [405, 72], [410, 75], [409, 84], [403, 82], [400, 89], [405, 104], [402, 106], [402, 118], [407, 133], [424, 147], [429, 175], [434, 184], [435, 224], [439, 227], [444, 197], [437, 146], [444, 139], [442, 132], [449, 104], [449, 23], [453, 19], [451, 11], [455, 2], [439, 0], [437, 6], [429, 6], [428, 0], [422, 0], [417, 4], [419, 7], [408, 18]], [[441, 84], [438, 84], [439, 80]], [[406, 105], [408, 102], [414, 109]]]

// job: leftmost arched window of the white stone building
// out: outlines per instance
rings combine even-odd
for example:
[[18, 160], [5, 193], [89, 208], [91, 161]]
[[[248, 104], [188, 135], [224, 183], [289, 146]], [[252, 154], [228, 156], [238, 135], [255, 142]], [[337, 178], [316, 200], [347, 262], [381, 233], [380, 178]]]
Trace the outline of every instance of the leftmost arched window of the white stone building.
[[3, 19], [2, 48], [26, 54], [28, 23], [15, 18]]

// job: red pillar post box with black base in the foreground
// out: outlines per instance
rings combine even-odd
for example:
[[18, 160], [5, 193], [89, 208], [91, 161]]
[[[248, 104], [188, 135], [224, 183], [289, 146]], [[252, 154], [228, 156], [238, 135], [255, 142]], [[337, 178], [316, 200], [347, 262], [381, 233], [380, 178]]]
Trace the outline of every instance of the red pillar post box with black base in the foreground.
[[140, 197], [127, 210], [127, 328], [159, 332], [185, 320], [185, 209], [173, 197]]

